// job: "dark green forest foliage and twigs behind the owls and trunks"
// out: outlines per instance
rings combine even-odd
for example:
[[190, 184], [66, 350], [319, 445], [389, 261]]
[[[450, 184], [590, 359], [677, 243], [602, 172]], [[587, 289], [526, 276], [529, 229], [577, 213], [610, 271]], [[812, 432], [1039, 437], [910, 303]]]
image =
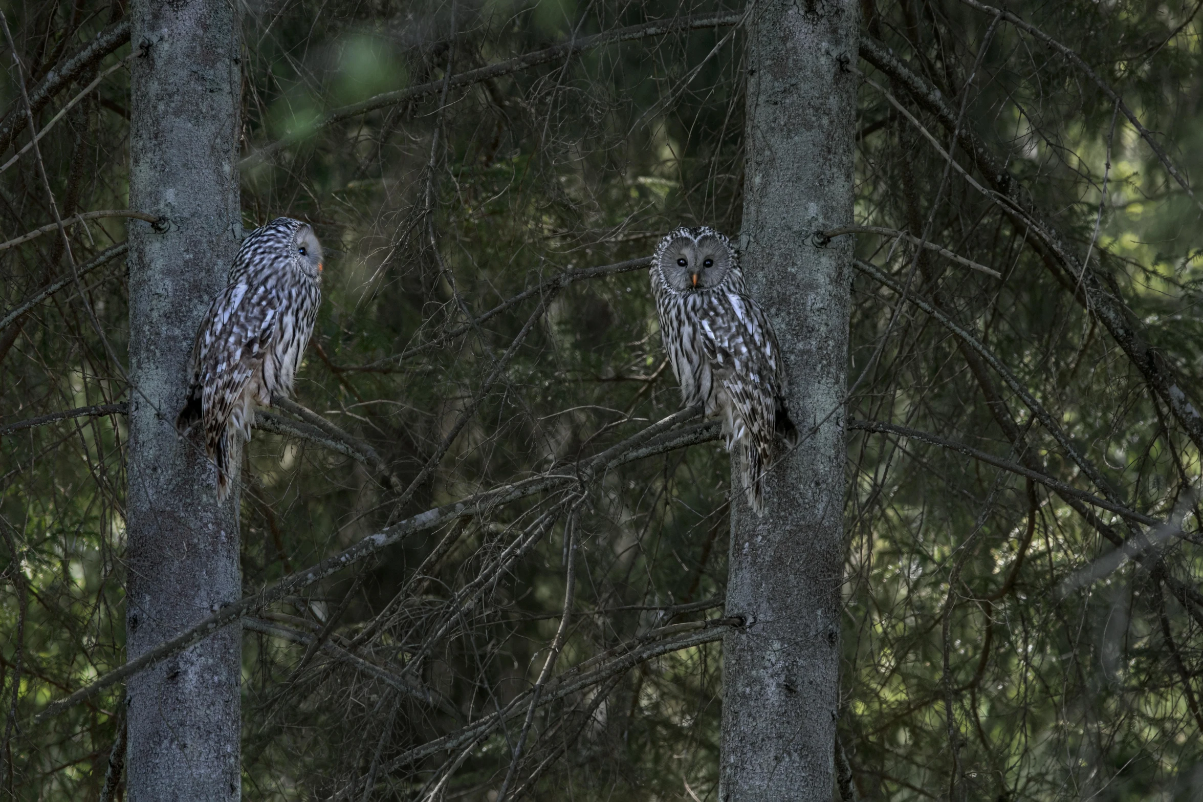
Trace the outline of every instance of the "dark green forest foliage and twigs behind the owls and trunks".
[[[855, 224], [878, 231], [841, 234], [861, 266], [838, 711], [857, 794], [1197, 798], [1203, 442], [1181, 409], [1203, 399], [1203, 196], [1185, 178], [1203, 170], [1203, 4], [1005, 4], [1023, 24], [972, 0], [861, 6], [882, 51], [848, 65], [863, 78]], [[244, 226], [303, 219], [328, 255], [297, 400], [386, 468], [288, 421], [256, 430], [248, 594], [422, 511], [579, 476], [677, 411], [634, 260], [680, 224], [740, 231], [734, 23], [753, 12], [244, 5]], [[128, 35], [34, 109], [45, 136], [5, 164], [29, 142], [19, 76], [42, 85], [124, 5], [4, 13], [22, 66], [0, 82], [0, 239], [55, 210], [125, 209]], [[675, 23], [633, 28], [656, 20]], [[83, 268], [126, 225], [146, 224], [73, 226], [73, 263], [51, 234], [0, 250], [0, 785], [22, 800], [100, 795], [123, 725], [119, 685], [34, 717], [124, 663], [128, 277], [119, 256]], [[565, 273], [604, 266], [618, 267]], [[1157, 375], [1177, 384], [1158, 392]], [[40, 420], [66, 410], [79, 414]], [[493, 801], [525, 738], [511, 795], [717, 798], [730, 482], [713, 432], [689, 432], [687, 447], [420, 531], [256, 612], [245, 797]], [[557, 688], [593, 682], [545, 700], [525, 733], [521, 700], [551, 652]], [[516, 700], [504, 726], [472, 730]]]

